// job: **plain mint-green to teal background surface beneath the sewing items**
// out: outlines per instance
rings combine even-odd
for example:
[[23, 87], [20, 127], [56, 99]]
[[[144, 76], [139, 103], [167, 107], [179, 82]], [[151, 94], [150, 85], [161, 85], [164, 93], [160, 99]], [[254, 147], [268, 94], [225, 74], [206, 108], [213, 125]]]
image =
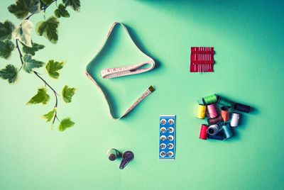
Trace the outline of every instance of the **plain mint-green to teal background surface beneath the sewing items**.
[[[19, 24], [1, 0], [0, 21]], [[0, 81], [0, 189], [284, 189], [284, 1], [82, 1], [80, 13], [60, 18], [59, 41], [44, 44], [38, 60], [66, 60], [60, 79], [43, 75], [60, 91], [75, 86], [72, 104], [58, 106], [75, 126], [60, 133], [40, 116], [53, 107], [26, 106], [43, 86], [21, 73], [14, 85]], [[55, 5], [46, 16], [51, 16]], [[33, 23], [43, 20], [38, 14]], [[159, 67], [151, 72], [101, 79], [107, 67], [145, 60], [122, 28], [116, 28], [92, 74], [109, 92], [116, 114], [145, 91], [156, 91], [120, 121], [109, 117], [101, 92], [84, 75], [114, 21], [125, 23]], [[190, 73], [190, 47], [213, 46], [213, 73]], [[16, 51], [0, 67], [20, 65]], [[221, 94], [249, 104], [234, 138], [200, 140], [197, 99]], [[158, 160], [159, 116], [177, 116], [176, 159]], [[119, 169], [107, 150], [132, 150]]]

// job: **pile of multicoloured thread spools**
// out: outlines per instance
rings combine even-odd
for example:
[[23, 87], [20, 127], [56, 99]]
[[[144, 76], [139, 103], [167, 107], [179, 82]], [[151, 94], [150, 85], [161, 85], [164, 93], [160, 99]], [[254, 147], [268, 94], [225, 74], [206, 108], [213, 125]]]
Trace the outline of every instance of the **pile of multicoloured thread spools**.
[[239, 125], [239, 112], [249, 113], [249, 111], [251, 111], [250, 106], [234, 103], [217, 94], [205, 96], [202, 98], [202, 104], [199, 104], [197, 108], [197, 118], [207, 117], [208, 123], [201, 125], [200, 139], [225, 140], [231, 138], [234, 134], [232, 128]]

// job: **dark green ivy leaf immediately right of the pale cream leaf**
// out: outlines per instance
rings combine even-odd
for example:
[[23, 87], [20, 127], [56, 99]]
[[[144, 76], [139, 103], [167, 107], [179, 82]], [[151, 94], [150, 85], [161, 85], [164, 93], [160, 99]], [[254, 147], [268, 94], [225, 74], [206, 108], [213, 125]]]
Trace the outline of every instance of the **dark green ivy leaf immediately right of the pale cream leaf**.
[[43, 35], [45, 38], [47, 38], [50, 43], [57, 43], [58, 25], [58, 18], [55, 16], [50, 16], [48, 20], [39, 22], [35, 27], [35, 31], [38, 35]]

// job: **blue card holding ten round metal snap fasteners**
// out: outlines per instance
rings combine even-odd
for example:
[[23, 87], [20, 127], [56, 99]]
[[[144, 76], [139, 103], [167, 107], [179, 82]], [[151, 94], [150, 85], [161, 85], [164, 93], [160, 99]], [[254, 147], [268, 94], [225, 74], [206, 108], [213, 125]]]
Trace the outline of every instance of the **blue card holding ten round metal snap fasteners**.
[[160, 116], [159, 160], [175, 160], [175, 115]]

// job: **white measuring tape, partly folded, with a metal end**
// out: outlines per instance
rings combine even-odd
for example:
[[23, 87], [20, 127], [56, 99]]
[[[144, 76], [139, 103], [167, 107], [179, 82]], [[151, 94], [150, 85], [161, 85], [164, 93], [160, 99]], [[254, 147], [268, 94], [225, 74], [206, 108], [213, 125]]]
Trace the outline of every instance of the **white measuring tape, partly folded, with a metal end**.
[[[94, 60], [95, 58], [99, 55], [99, 53], [102, 51], [102, 49], [104, 48], [104, 45], [107, 43], [107, 40], [109, 39], [109, 35], [111, 34], [112, 30], [114, 29], [114, 26], [116, 26], [117, 24], [119, 24], [120, 26], [122, 26], [122, 28], [124, 28], [124, 31], [126, 32], [126, 34], [128, 34], [129, 38], [131, 39], [131, 41], [134, 43], [134, 41], [131, 38], [131, 35], [129, 34], [129, 31], [127, 30], [126, 26], [124, 26], [123, 23], [119, 23], [119, 22], [114, 22], [111, 25], [111, 28], [109, 28], [109, 32], [107, 33], [107, 38], [104, 39], [104, 43], [102, 45], [102, 47], [99, 48], [99, 51], [97, 52], [97, 55], [94, 56]], [[136, 45], [134, 43], [134, 45]], [[136, 47], [139, 49], [139, 47], [136, 45]], [[139, 74], [139, 73], [143, 73], [143, 72], [148, 72], [151, 69], [153, 69], [155, 67], [155, 61], [149, 57], [148, 55], [146, 55], [144, 52], [142, 52], [140, 50], [140, 52], [145, 55], [148, 58], [148, 61], [146, 62], [141, 62], [138, 64], [134, 64], [134, 65], [128, 65], [125, 67], [115, 67], [115, 68], [107, 68], [107, 69], [103, 69], [101, 72], [101, 76], [103, 79], [110, 79], [110, 78], [116, 78], [116, 77], [123, 77], [123, 76], [128, 76], [128, 75], [132, 75], [132, 74]], [[144, 65], [148, 65], [149, 67], [145, 68], [143, 67]], [[94, 80], [94, 78], [87, 72], [87, 67], [86, 67], [86, 71], [85, 74], [87, 75], [87, 77], [99, 88], [100, 91], [102, 91], [102, 94], [104, 96], [104, 99], [107, 101], [107, 105], [109, 106], [109, 101], [107, 99], [107, 96], [105, 95], [104, 91], [102, 90], [101, 86], [99, 86], [99, 84]], [[129, 109], [124, 112], [124, 114], [122, 116], [120, 116], [119, 118], [115, 118], [111, 112], [111, 106], [109, 106], [109, 114], [111, 115], [111, 118], [113, 118], [114, 120], [119, 120], [120, 118], [123, 118], [124, 116], [127, 115], [127, 113], [131, 112], [133, 110], [133, 108], [135, 108], [141, 101], [143, 101], [143, 99], [145, 99], [147, 96], [149, 96], [153, 91], [155, 91], [155, 89], [153, 88], [153, 86], [150, 86], [130, 107]]]

